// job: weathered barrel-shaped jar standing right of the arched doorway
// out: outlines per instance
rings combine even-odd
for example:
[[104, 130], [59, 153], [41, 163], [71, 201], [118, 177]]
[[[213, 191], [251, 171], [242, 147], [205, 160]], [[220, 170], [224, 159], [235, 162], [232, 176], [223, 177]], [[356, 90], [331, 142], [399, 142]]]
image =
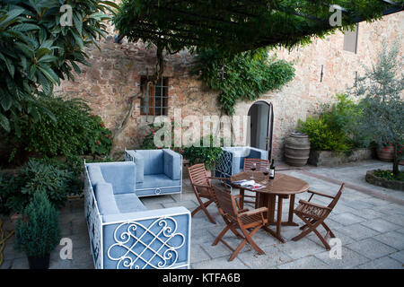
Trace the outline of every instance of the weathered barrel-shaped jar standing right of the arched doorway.
[[285, 161], [294, 167], [302, 167], [309, 160], [309, 136], [302, 133], [292, 133], [285, 138]]

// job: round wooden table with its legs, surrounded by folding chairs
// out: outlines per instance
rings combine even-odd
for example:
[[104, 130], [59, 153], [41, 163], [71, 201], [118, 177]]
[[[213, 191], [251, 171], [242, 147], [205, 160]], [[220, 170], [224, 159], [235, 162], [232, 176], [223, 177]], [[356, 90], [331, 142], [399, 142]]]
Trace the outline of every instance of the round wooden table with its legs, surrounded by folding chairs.
[[[249, 187], [241, 187], [240, 185], [234, 184], [234, 181], [247, 179], [253, 180], [265, 187], [260, 189], [252, 189]], [[296, 194], [303, 193], [309, 190], [309, 184], [302, 179], [294, 178], [282, 173], [276, 173], [274, 179], [269, 179], [268, 176], [264, 176], [262, 171], [242, 171], [230, 178], [232, 187], [240, 188], [240, 194], [242, 198], [244, 196], [244, 190], [250, 190], [257, 194], [255, 207], [259, 208], [262, 206], [268, 207], [268, 225], [276, 225], [277, 230], [272, 230], [268, 226], [264, 229], [267, 230], [272, 236], [279, 239], [282, 243], [285, 243], [285, 239], [281, 235], [281, 226], [298, 226], [297, 223], [293, 221], [294, 219], [294, 196]], [[267, 183], [263, 183], [267, 181]], [[282, 204], [284, 198], [289, 198], [289, 216], [287, 222], [282, 222]], [[277, 222], [275, 222], [275, 206], [277, 201]], [[243, 206], [243, 199], [241, 202]]]

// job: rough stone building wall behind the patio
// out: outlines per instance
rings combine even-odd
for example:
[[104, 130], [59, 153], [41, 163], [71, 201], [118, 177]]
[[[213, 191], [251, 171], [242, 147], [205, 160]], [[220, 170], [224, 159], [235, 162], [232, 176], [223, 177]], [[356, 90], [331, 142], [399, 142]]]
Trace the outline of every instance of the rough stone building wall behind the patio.
[[[277, 56], [294, 62], [294, 81], [281, 91], [270, 91], [260, 100], [274, 106], [274, 156], [283, 156], [283, 140], [294, 131], [298, 119], [319, 111], [322, 103], [334, 100], [338, 92], [346, 91], [355, 82], [356, 72], [363, 74], [363, 65], [371, 65], [377, 58], [383, 41], [391, 43], [402, 37], [404, 13], [385, 16], [382, 21], [359, 24], [357, 54], [343, 50], [344, 35], [340, 32], [325, 39], [313, 39], [312, 44], [292, 51], [278, 49]], [[83, 73], [75, 83], [63, 82], [57, 91], [67, 98], [88, 100], [95, 114], [107, 127], [115, 130], [127, 115], [130, 97], [139, 91], [140, 77], [154, 73], [155, 50], [143, 43], [113, 43], [113, 35], [100, 41], [100, 47], [89, 48], [91, 66], [83, 66]], [[402, 56], [402, 48], [401, 48]], [[164, 57], [164, 74], [169, 77], [169, 116], [173, 108], [188, 115], [220, 115], [217, 92], [209, 91], [198, 78], [189, 74], [192, 57], [187, 51]], [[321, 65], [323, 77], [321, 77]], [[239, 102], [236, 115], [247, 115], [253, 102]], [[148, 129], [145, 116], [140, 116], [140, 100], [126, 128], [115, 138], [114, 151], [138, 147]]]

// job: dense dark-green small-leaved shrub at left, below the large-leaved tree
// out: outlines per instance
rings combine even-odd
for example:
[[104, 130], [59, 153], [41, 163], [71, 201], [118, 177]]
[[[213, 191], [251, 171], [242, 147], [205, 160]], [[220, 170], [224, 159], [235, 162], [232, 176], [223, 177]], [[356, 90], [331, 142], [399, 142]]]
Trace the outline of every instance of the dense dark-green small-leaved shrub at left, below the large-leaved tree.
[[55, 115], [56, 121], [45, 116], [35, 123], [31, 117], [22, 117], [24, 137], [19, 138], [13, 132], [8, 135], [14, 150], [24, 148], [48, 157], [63, 155], [67, 159], [75, 155], [110, 152], [110, 130], [104, 126], [101, 117], [91, 114], [90, 107], [83, 100], [41, 97], [39, 101]]

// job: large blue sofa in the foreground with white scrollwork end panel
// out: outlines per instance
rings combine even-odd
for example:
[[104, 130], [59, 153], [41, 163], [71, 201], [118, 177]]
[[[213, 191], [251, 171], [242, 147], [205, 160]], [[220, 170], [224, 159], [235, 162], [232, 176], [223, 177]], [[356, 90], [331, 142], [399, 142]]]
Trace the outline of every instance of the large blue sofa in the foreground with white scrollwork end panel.
[[96, 268], [189, 268], [188, 209], [147, 210], [136, 194], [133, 161], [84, 166], [85, 216]]

